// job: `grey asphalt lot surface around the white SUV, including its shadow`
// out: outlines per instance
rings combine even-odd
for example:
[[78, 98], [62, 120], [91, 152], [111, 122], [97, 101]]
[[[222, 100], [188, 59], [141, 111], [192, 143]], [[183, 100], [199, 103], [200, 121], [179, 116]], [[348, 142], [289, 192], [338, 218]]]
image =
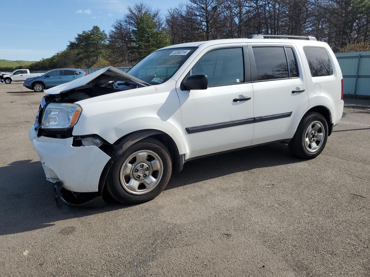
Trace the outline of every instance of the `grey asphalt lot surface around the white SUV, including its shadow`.
[[314, 160], [188, 162], [141, 205], [58, 210], [28, 140], [44, 93], [0, 83], [0, 276], [370, 276], [370, 100]]

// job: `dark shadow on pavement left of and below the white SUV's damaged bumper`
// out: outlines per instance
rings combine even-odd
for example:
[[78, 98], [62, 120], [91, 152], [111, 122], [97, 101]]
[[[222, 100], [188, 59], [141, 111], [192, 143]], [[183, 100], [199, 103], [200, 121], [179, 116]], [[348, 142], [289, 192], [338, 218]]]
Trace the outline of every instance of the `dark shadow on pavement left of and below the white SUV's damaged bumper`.
[[127, 208], [112, 203], [102, 208], [63, 205], [57, 209], [53, 185], [46, 181], [39, 161], [16, 161], [0, 167], [0, 235], [27, 232], [53, 222]]

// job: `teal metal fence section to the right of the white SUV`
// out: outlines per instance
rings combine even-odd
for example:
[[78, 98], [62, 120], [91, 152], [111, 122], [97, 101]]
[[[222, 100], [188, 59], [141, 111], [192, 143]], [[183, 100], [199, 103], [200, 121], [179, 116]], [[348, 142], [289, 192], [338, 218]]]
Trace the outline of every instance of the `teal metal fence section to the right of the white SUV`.
[[370, 96], [370, 51], [336, 53], [343, 74], [343, 93]]

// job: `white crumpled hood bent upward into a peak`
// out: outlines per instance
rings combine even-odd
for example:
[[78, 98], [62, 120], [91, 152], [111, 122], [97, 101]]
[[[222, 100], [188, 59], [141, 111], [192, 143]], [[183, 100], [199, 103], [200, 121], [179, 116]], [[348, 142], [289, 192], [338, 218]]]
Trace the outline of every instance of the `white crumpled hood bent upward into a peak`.
[[74, 81], [61, 84], [59, 86], [54, 86], [54, 88], [50, 88], [45, 90], [44, 92], [47, 94], [60, 94], [68, 92], [72, 89], [78, 88], [79, 86], [84, 86], [89, 83], [91, 83], [94, 79], [98, 78], [100, 81], [104, 81], [105, 77], [108, 79], [112, 79], [114, 76], [119, 76], [120, 81], [127, 81], [127, 82], [136, 82], [139, 83], [142, 86], [151, 86], [147, 82], [141, 81], [138, 78], [135, 78], [134, 76], [131, 76], [120, 69], [114, 68], [113, 66], [107, 66], [105, 68], [102, 68], [98, 71], [95, 71], [91, 74], [88, 74], [86, 76], [83, 76], [81, 78], [78, 78]]

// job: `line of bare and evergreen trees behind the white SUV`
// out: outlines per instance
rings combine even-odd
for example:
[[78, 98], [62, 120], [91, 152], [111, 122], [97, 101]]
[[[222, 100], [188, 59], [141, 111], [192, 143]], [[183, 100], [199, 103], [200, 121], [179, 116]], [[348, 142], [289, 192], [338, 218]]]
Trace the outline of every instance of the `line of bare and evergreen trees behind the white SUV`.
[[108, 34], [94, 26], [30, 70], [131, 66], [171, 44], [250, 34], [313, 35], [334, 52], [370, 50], [370, 0], [188, 0], [165, 13], [127, 7]]

